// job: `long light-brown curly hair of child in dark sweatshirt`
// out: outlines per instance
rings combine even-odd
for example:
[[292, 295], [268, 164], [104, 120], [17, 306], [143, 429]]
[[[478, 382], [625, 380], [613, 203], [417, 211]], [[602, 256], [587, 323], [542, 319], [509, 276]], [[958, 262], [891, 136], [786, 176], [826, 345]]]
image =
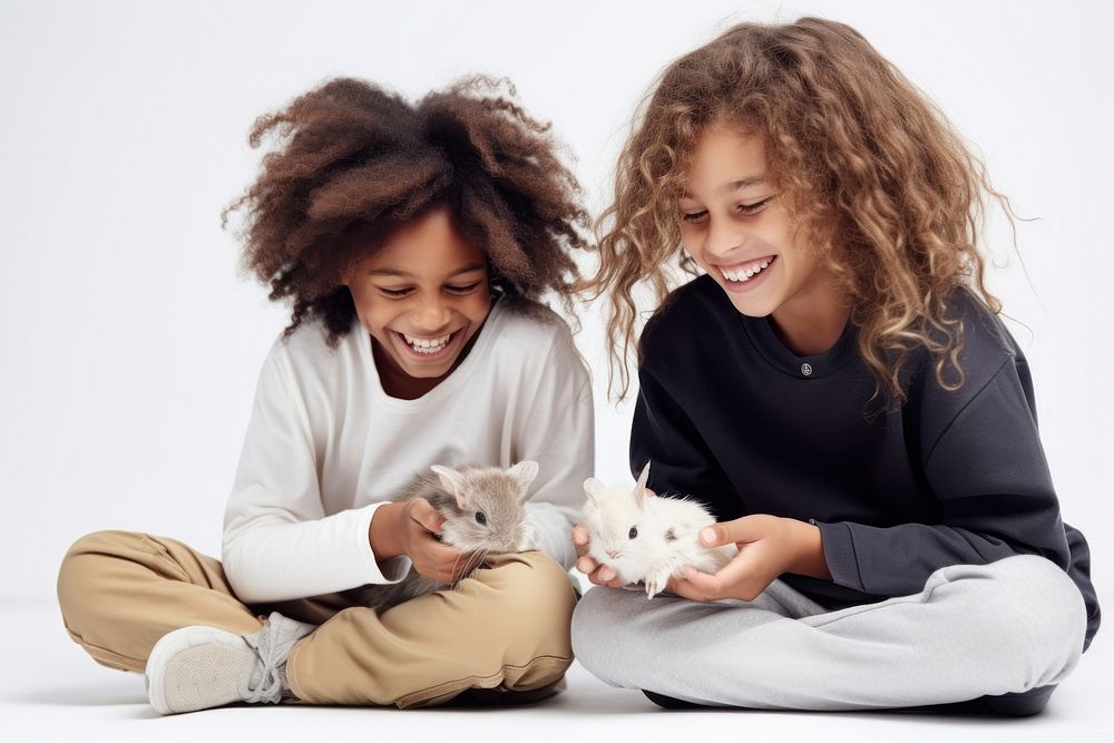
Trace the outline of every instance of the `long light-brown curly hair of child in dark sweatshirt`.
[[966, 286], [1000, 312], [977, 243], [987, 196], [1013, 225], [1009, 203], [944, 114], [858, 31], [802, 18], [729, 29], [670, 65], [641, 106], [597, 222], [599, 268], [582, 287], [590, 299], [609, 291], [619, 399], [639, 300], [648, 292], [661, 311], [698, 273], [681, 246], [678, 199], [697, 137], [721, 125], [763, 138], [768, 175], [851, 302], [876, 397], [903, 401], [900, 372], [918, 348], [941, 385], [960, 387], [962, 324], [946, 309]]

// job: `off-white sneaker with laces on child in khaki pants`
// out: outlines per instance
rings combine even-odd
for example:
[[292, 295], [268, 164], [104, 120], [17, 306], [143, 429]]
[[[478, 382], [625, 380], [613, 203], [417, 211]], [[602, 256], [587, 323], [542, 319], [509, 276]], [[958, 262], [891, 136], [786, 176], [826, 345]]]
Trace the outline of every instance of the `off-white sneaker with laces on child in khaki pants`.
[[164, 715], [234, 702], [277, 704], [292, 696], [286, 656], [314, 629], [277, 612], [251, 635], [203, 626], [175, 629], [155, 643], [147, 658], [147, 701]]

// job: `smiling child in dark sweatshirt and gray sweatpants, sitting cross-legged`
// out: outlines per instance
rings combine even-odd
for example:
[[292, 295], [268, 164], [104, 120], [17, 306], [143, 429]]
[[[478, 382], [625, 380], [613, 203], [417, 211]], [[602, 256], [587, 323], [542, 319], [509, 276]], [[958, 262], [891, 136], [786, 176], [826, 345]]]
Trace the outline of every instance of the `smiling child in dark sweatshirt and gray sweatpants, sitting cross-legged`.
[[[576, 528], [578, 567], [609, 586], [573, 618], [589, 671], [663, 706], [1044, 707], [1100, 609], [984, 283], [988, 197], [1009, 214], [842, 23], [743, 23], [665, 70], [590, 289], [622, 394], [655, 296], [632, 471], [709, 506], [701, 541], [739, 555], [647, 603]], [[696, 277], [670, 293], [674, 261]]]

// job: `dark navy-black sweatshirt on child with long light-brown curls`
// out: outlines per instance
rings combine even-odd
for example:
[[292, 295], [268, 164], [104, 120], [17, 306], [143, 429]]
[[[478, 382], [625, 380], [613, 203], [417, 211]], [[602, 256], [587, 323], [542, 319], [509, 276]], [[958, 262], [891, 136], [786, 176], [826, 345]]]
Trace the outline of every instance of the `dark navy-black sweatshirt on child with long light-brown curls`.
[[947, 315], [964, 317], [962, 387], [942, 389], [920, 349], [906, 403], [879, 411], [854, 325], [797, 356], [769, 319], [740, 314], [701, 276], [642, 335], [632, 471], [653, 462], [651, 489], [692, 496], [721, 521], [814, 522], [833, 583], [782, 579], [831, 609], [920, 593], [945, 566], [1042, 555], [1083, 594], [1086, 647], [1100, 623], [1089, 551], [1061, 521], [1028, 364], [974, 295], [956, 292]]

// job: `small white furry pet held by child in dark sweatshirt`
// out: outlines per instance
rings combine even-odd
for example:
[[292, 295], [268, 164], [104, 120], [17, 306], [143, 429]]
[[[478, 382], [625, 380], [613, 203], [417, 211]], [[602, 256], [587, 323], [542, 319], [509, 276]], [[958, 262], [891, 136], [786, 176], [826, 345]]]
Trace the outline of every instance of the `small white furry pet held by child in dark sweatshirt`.
[[588, 530], [588, 556], [613, 568], [624, 583], [644, 581], [646, 596], [653, 598], [671, 577], [682, 577], [685, 566], [715, 573], [739, 550], [734, 545], [701, 545], [697, 534], [715, 522], [712, 515], [694, 500], [647, 493], [648, 479], [648, 463], [634, 490], [608, 488], [588, 478], [583, 522]]

